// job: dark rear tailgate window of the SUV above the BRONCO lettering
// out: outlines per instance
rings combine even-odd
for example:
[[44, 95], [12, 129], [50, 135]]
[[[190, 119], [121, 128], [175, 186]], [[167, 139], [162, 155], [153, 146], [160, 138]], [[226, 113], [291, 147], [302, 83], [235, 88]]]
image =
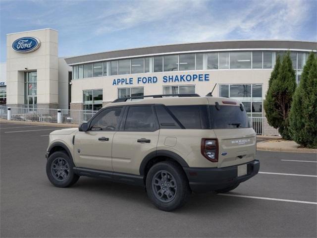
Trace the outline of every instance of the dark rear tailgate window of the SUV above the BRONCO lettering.
[[212, 129], [233, 129], [250, 127], [246, 110], [241, 111], [238, 106], [223, 106], [217, 110], [215, 105], [210, 106]]

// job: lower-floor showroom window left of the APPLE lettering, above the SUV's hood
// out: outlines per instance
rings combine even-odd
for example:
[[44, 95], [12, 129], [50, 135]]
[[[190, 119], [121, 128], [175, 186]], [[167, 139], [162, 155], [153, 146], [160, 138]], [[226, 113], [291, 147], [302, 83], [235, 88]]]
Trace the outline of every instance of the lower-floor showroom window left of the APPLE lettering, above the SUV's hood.
[[84, 110], [98, 111], [103, 107], [103, 90], [93, 89], [83, 91]]

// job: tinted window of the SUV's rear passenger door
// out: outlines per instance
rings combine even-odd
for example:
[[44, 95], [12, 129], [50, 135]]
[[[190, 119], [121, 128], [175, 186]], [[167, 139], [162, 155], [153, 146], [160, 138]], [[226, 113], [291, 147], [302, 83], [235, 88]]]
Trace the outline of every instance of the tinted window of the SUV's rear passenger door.
[[152, 106], [130, 106], [125, 131], [155, 131], [159, 129]]

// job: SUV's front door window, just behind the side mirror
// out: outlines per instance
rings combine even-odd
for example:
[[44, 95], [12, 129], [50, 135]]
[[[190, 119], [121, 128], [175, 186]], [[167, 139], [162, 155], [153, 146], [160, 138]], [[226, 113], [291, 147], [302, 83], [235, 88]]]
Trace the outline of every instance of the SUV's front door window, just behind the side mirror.
[[114, 131], [117, 130], [120, 115], [123, 107], [107, 108], [103, 110], [90, 124], [93, 131]]

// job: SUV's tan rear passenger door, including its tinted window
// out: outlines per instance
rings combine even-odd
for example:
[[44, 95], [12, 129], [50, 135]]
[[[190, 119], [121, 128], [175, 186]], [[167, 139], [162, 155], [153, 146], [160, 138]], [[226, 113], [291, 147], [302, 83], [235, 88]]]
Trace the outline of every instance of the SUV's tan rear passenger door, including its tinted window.
[[112, 143], [114, 172], [139, 175], [143, 158], [157, 150], [159, 123], [153, 105], [129, 106]]

